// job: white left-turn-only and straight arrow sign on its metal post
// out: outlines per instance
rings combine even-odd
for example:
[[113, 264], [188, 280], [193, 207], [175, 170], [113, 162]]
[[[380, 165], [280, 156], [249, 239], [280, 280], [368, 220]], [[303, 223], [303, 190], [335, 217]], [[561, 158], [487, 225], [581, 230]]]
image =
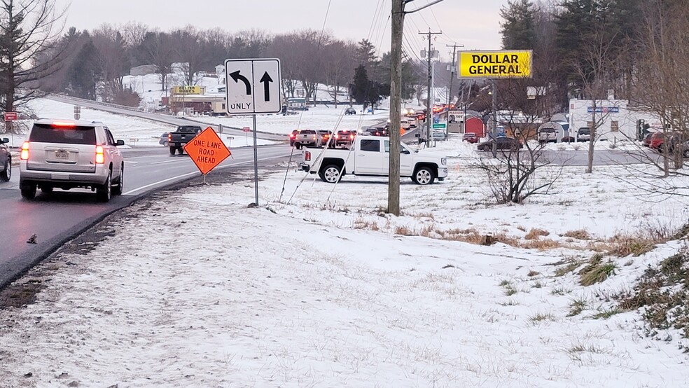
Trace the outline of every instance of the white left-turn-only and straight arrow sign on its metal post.
[[[281, 113], [280, 60], [253, 58], [225, 60], [225, 97], [227, 113], [253, 116], [253, 183], [258, 206], [258, 148], [256, 140], [256, 114]], [[247, 127], [244, 127], [244, 132]], [[250, 130], [250, 129], [249, 129]], [[249, 134], [246, 134], [249, 143]]]

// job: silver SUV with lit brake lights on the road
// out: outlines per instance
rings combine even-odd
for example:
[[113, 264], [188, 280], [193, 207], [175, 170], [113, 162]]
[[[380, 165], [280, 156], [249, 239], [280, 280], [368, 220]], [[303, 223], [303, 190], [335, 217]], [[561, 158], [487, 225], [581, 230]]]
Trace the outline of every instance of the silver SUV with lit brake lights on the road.
[[100, 202], [122, 194], [125, 164], [108, 127], [96, 121], [39, 119], [22, 144], [19, 185], [22, 197], [53, 188], [90, 188]]

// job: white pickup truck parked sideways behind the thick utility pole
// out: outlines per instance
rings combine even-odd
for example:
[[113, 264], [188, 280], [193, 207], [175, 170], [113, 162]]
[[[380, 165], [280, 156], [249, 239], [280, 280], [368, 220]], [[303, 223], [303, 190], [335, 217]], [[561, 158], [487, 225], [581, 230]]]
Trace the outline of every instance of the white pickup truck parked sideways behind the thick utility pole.
[[[412, 151], [400, 145], [400, 176], [427, 185], [447, 177], [447, 158], [429, 152]], [[328, 183], [340, 181], [344, 174], [387, 176], [390, 163], [390, 139], [357, 136], [352, 149], [309, 148], [302, 151], [300, 167]]]

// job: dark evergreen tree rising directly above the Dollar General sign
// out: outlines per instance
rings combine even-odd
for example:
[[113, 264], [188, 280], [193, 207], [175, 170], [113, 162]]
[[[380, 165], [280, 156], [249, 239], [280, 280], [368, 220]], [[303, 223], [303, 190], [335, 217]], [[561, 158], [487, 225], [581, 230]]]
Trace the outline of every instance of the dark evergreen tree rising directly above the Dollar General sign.
[[510, 50], [533, 49], [536, 42], [534, 32], [534, 4], [529, 0], [508, 1], [500, 10], [503, 18], [500, 33], [503, 48]]

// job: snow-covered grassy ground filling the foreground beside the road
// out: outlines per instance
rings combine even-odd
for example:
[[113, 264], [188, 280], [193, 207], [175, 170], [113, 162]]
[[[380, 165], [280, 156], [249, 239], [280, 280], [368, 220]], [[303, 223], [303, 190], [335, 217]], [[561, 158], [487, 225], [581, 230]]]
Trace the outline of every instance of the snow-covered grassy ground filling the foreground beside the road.
[[386, 179], [330, 185], [286, 164], [260, 173], [258, 208], [241, 171], [137, 202], [102, 242], [55, 254], [36, 303], [0, 311], [0, 387], [688, 386], [681, 333], [650, 340], [636, 311], [594, 319], [682, 242], [613, 257], [594, 286], [554, 264], [678, 228], [689, 199], [648, 201], [623, 167], [565, 167], [550, 195], [492, 205], [475, 146], [437, 148], [450, 176], [403, 179], [399, 217]]

